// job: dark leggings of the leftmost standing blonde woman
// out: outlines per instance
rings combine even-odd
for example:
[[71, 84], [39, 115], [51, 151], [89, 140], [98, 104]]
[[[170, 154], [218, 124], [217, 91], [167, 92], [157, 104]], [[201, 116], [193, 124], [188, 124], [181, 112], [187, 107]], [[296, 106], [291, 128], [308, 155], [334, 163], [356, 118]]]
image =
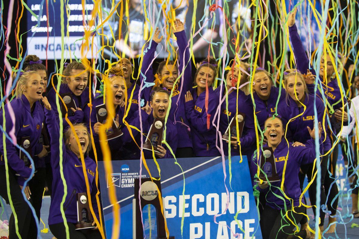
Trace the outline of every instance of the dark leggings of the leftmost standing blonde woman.
[[[9, 204], [9, 197], [7, 191], [6, 183], [6, 171], [5, 165], [0, 166], [0, 196], [3, 197], [6, 203]], [[9, 167], [9, 187], [10, 187], [10, 196], [13, 202], [14, 210], [17, 215], [17, 225], [18, 231], [22, 238], [28, 238], [29, 225], [31, 221], [31, 210], [29, 205], [25, 201], [17, 178], [15, 176], [15, 171]], [[30, 199], [31, 201], [32, 199]], [[9, 220], [9, 238], [15, 239], [18, 238], [15, 228], [15, 217], [14, 213], [11, 214]]]

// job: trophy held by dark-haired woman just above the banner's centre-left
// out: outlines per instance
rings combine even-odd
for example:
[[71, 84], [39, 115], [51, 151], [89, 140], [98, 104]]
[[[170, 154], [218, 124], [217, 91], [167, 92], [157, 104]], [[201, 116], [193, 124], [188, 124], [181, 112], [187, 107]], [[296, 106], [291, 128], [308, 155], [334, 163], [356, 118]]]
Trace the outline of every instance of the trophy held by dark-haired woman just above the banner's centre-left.
[[153, 124], [150, 127], [147, 138], [143, 143], [143, 149], [152, 150], [153, 146], [153, 151], [160, 153], [157, 151], [157, 145], [162, 146], [163, 129], [164, 120], [155, 118], [153, 120]]

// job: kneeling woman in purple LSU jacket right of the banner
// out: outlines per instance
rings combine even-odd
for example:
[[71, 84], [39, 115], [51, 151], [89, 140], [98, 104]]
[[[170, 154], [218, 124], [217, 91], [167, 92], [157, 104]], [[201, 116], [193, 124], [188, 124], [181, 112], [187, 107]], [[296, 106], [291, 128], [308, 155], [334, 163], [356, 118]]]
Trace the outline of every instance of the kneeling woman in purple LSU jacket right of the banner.
[[[306, 207], [302, 190], [299, 187], [299, 178], [297, 177], [300, 165], [313, 163], [316, 159], [316, 144], [314, 139], [321, 137], [322, 126], [318, 123], [318, 132], [308, 127], [307, 134], [309, 140], [306, 145], [294, 147], [292, 142], [287, 144], [283, 139], [284, 128], [282, 120], [277, 116], [270, 116], [265, 121], [265, 132], [268, 142], [263, 147], [271, 147], [275, 158], [276, 172], [280, 178], [276, 182], [256, 182], [255, 174], [260, 165], [259, 159], [262, 156], [260, 149], [259, 157], [253, 154], [251, 161], [251, 176], [253, 186], [257, 185], [257, 190], [265, 195], [266, 205], [261, 214], [260, 225], [263, 238], [287, 238], [293, 235], [293, 229], [303, 218]], [[323, 153], [323, 144], [320, 140], [320, 152]], [[274, 170], [274, 168], [272, 168]], [[281, 188], [282, 178], [284, 176], [284, 188]], [[269, 177], [269, 176], [268, 176]], [[283, 193], [284, 192], [284, 193]], [[301, 203], [300, 203], [301, 202]], [[282, 217], [282, 215], [287, 215]], [[308, 228], [300, 230], [294, 234], [295, 238], [310, 238], [311, 234]]]

